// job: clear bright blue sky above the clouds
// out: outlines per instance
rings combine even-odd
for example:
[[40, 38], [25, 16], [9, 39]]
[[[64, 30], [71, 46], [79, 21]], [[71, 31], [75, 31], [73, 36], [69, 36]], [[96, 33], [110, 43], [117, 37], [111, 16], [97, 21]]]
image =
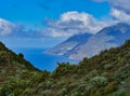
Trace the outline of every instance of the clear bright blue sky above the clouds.
[[101, 18], [108, 14], [109, 5], [91, 0], [0, 0], [1, 18], [29, 28], [42, 28], [46, 18], [58, 19], [67, 11], [87, 12]]

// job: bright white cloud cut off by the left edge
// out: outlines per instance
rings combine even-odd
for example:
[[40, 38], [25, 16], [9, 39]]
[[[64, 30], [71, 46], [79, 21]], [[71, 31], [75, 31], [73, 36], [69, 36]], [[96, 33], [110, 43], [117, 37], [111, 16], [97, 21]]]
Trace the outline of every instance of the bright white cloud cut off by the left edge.
[[0, 18], [0, 36], [10, 35], [14, 28], [14, 24]]

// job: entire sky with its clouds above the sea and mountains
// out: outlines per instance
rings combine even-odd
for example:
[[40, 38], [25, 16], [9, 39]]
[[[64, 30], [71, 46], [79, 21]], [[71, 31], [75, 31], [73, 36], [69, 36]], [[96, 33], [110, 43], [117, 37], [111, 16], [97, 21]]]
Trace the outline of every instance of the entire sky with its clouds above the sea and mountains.
[[130, 0], [0, 0], [0, 41], [52, 47], [77, 33], [130, 23]]

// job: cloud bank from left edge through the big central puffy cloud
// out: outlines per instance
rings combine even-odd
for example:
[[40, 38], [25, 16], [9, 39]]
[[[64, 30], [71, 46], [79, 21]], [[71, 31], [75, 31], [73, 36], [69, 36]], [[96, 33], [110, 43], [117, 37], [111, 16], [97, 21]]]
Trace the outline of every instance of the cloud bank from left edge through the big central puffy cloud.
[[[112, 14], [114, 14], [113, 12]], [[0, 36], [13, 36], [21, 38], [68, 38], [78, 33], [96, 33], [102, 28], [115, 24], [114, 20], [99, 20], [84, 12], [65, 12], [57, 20], [47, 20], [47, 28], [42, 30], [26, 30], [26, 27], [14, 25], [4, 19], [0, 20]], [[4, 25], [4, 26], [3, 26]], [[3, 30], [2, 30], [3, 29]]]

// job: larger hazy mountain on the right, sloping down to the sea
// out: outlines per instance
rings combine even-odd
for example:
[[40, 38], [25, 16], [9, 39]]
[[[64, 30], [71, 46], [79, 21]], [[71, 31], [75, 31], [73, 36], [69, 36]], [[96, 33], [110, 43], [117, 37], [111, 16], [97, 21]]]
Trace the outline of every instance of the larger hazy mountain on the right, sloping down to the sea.
[[[79, 42], [78, 45], [76, 45], [69, 51], [64, 50], [64, 47], [67, 49], [68, 46], [60, 44], [64, 50], [64, 54], [62, 55], [73, 59], [82, 59], [83, 57], [92, 57], [95, 54], [99, 54], [103, 50], [119, 46], [127, 39], [130, 39], [130, 25], [125, 23], [118, 23], [110, 27], [103, 28], [92, 37], [90, 38], [87, 37], [87, 39], [88, 40], [82, 41], [83, 43]], [[58, 49], [61, 49], [60, 45], [53, 49], [55, 50], [54, 52], [57, 51], [58, 54], [61, 54], [61, 52], [58, 51]], [[57, 53], [54, 52], [50, 51], [50, 53], [58, 55]]]

